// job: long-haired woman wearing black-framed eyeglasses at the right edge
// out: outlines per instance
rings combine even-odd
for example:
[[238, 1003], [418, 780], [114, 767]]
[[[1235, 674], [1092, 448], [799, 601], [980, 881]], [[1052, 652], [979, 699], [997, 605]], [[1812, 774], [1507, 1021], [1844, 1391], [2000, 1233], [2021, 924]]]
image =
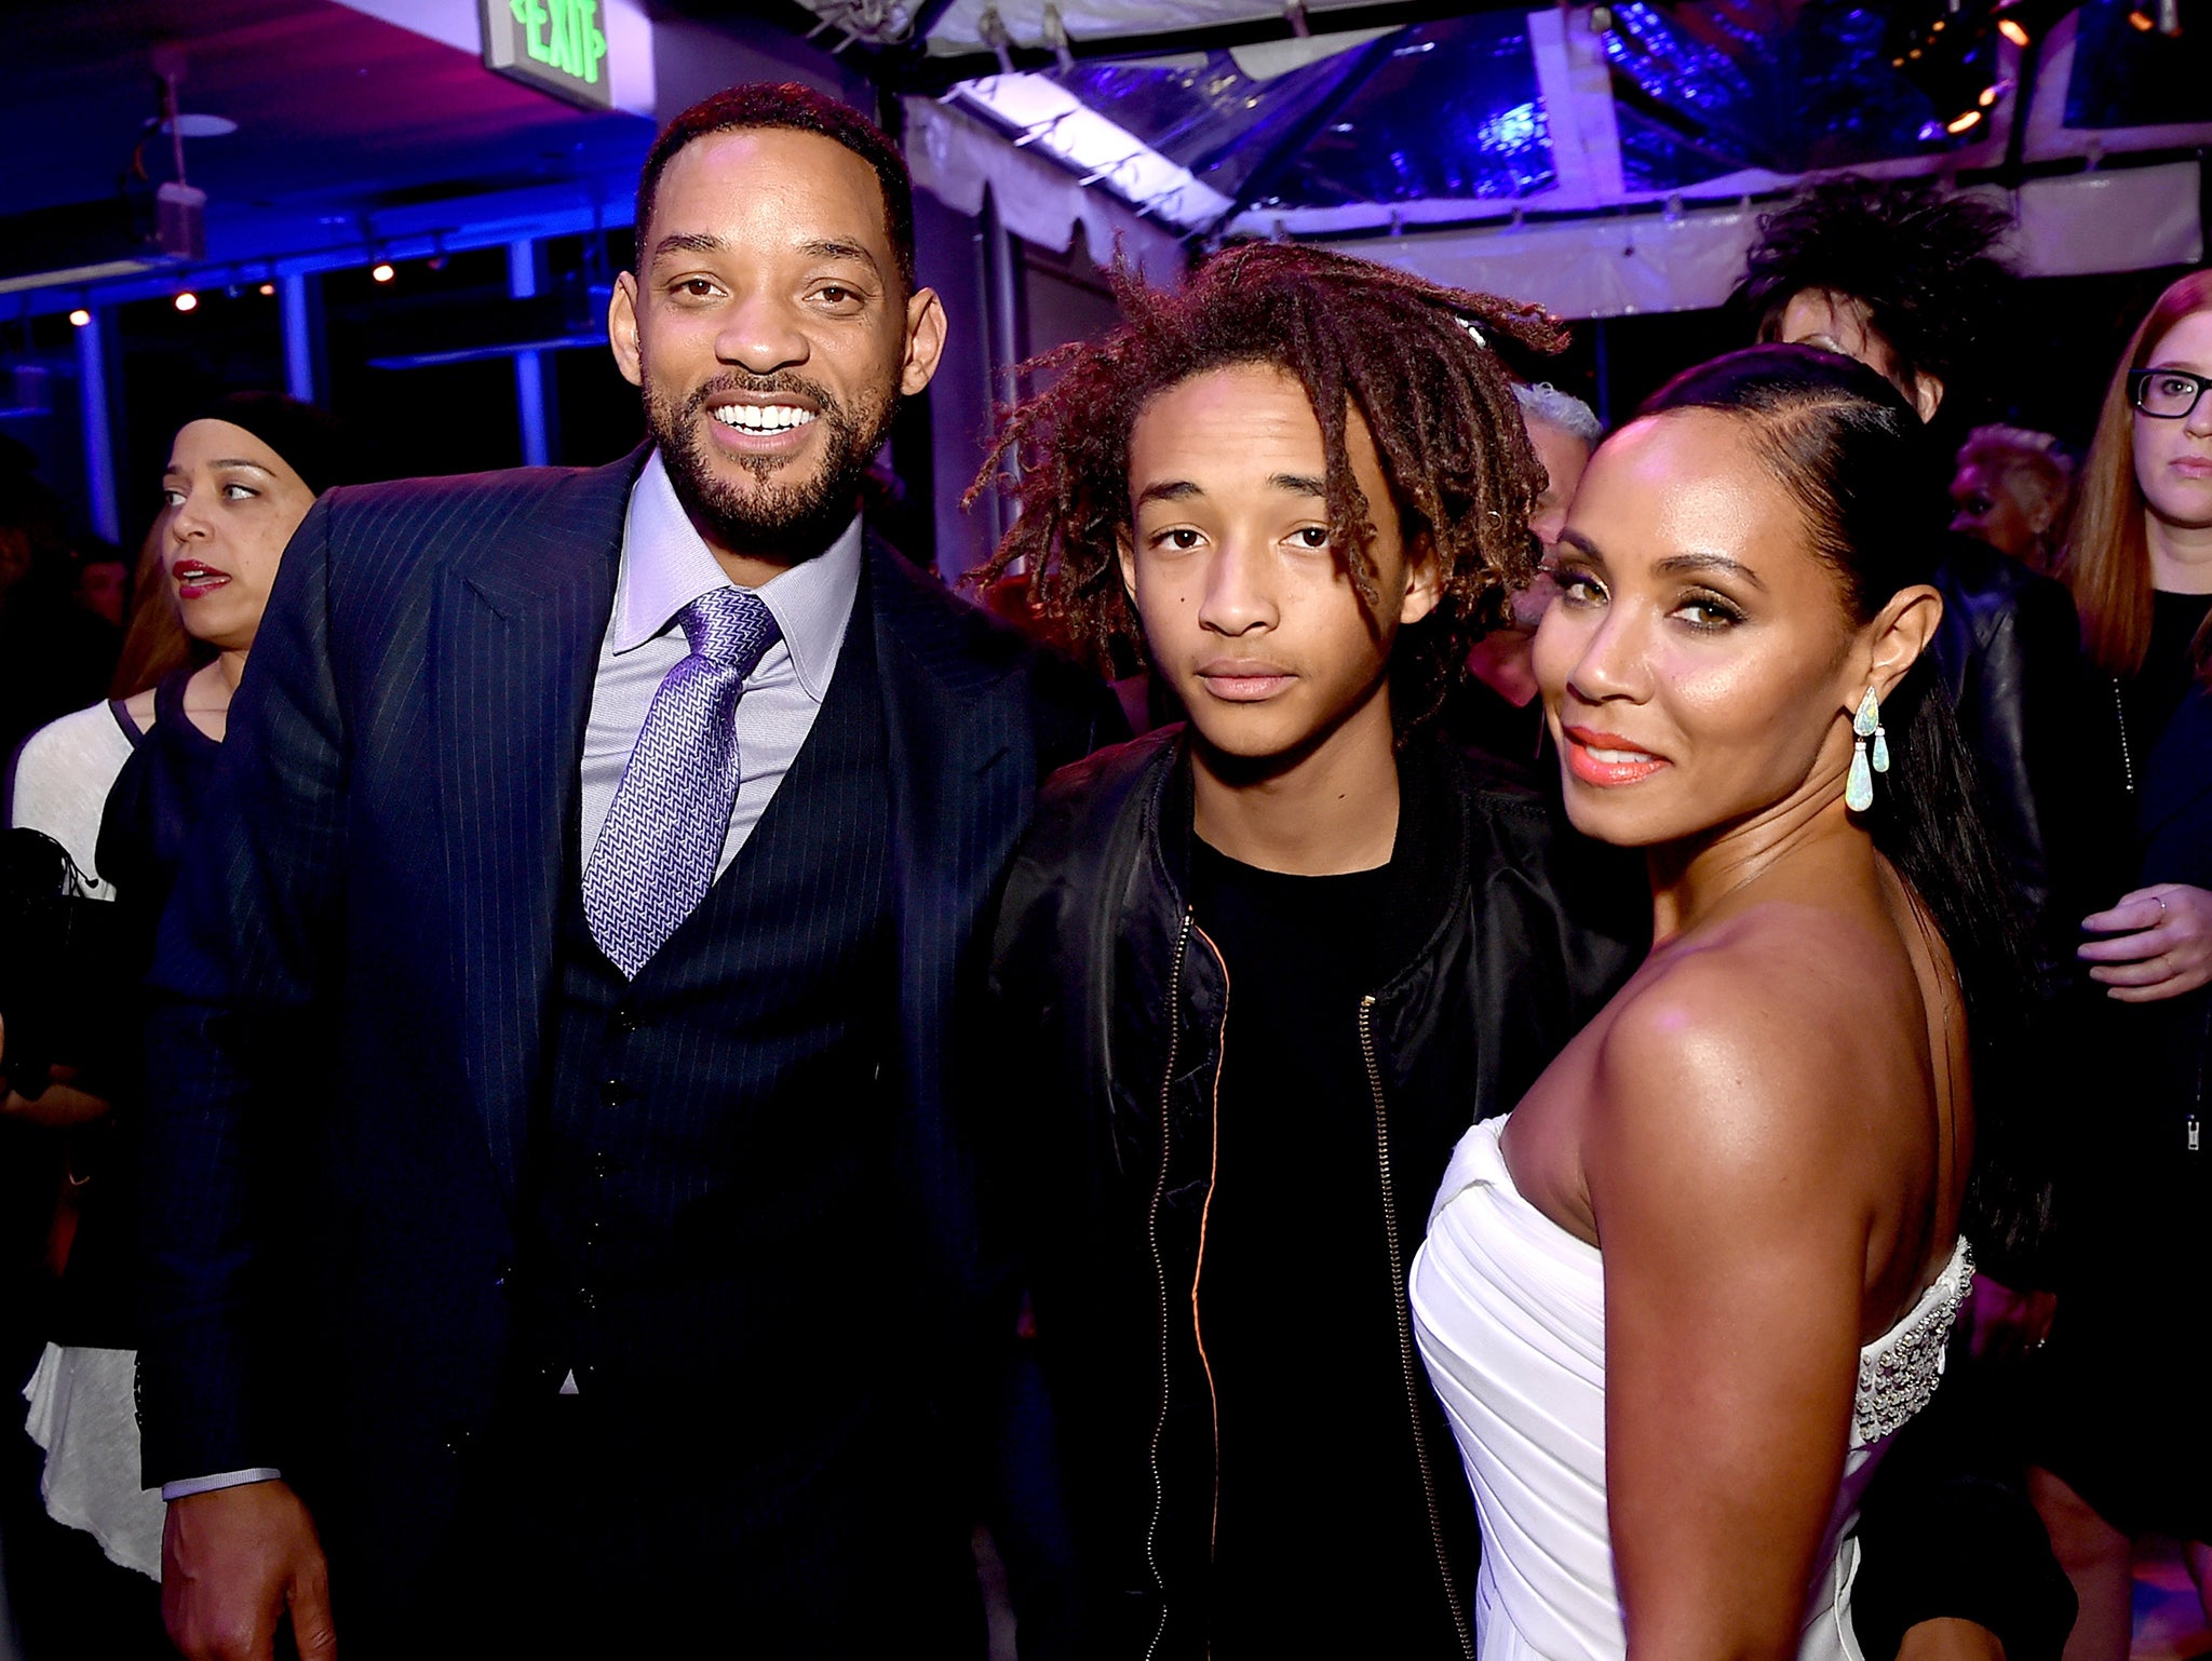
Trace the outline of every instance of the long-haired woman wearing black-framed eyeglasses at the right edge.
[[2212, 1427], [2201, 1411], [2212, 1274], [2212, 272], [2128, 341], [2081, 469], [2064, 575], [2090, 659], [2090, 721], [2128, 814], [2084, 920], [2097, 1009], [2081, 1033], [2090, 1161], [2062, 1197], [2073, 1241], [2035, 1358], [2031, 1491], [2081, 1612], [2066, 1661], [2124, 1661], [2143, 1533], [2188, 1544], [2212, 1615]]

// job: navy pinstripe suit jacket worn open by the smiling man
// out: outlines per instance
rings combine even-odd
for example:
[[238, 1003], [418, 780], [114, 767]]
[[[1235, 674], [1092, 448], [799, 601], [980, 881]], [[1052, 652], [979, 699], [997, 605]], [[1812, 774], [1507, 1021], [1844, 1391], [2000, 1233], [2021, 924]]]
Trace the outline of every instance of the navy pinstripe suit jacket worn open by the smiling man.
[[[155, 969], [148, 1482], [276, 1464], [420, 1531], [491, 1411], [577, 756], [639, 451], [332, 491], [285, 553]], [[902, 1170], [978, 1289], [960, 1042], [1088, 677], [869, 549], [894, 772]], [[325, 1519], [330, 1528], [330, 1519]]]

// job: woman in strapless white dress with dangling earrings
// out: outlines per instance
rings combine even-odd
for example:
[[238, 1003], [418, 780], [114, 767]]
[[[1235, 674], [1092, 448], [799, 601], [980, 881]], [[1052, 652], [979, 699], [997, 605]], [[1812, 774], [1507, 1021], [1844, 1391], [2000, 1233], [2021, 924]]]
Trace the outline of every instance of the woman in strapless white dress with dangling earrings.
[[1566, 809], [1646, 849], [1655, 947], [1460, 1143], [1411, 1276], [1486, 1661], [1856, 1654], [1856, 1500], [1933, 1393], [1962, 1219], [2033, 1228], [1973, 1163], [2022, 958], [1916, 668], [1918, 427], [1834, 354], [1730, 354], [1597, 451], [1555, 551]]

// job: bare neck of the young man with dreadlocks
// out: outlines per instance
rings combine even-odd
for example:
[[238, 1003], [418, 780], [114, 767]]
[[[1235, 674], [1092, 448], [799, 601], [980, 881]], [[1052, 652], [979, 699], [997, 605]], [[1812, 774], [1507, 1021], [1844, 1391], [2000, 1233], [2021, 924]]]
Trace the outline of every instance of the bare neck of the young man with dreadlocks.
[[1194, 739], [1199, 838], [1243, 865], [1343, 876], [1389, 865], [1398, 838], [1398, 754], [1389, 699], [1376, 697], [1287, 765], [1243, 761]]

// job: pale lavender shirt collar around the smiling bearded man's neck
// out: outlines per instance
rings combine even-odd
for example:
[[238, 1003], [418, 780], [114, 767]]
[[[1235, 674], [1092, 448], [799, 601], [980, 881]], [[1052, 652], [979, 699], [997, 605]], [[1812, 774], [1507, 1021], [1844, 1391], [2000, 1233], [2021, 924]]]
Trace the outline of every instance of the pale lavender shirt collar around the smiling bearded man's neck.
[[[677, 500], [661, 453], [655, 449], [637, 484], [630, 487], [608, 644], [617, 655], [633, 652], [666, 633], [677, 613], [699, 595], [734, 586]], [[783, 633], [799, 686], [816, 703], [830, 690], [830, 670], [845, 641], [858, 588], [860, 515], [856, 513], [825, 553], [779, 571], [754, 591]]]

